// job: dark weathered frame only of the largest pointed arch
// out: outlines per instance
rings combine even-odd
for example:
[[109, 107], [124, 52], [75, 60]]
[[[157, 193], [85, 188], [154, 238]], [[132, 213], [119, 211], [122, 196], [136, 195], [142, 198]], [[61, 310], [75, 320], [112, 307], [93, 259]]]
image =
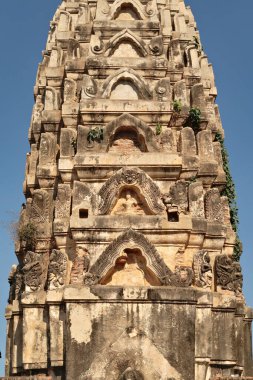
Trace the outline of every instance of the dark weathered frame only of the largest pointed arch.
[[88, 278], [96, 276], [99, 282], [115, 265], [116, 260], [126, 248], [140, 249], [147, 261], [147, 266], [162, 284], [165, 282], [165, 278], [173, 276], [172, 271], [167, 267], [154, 245], [142, 233], [130, 228], [109, 244], [90, 268]]

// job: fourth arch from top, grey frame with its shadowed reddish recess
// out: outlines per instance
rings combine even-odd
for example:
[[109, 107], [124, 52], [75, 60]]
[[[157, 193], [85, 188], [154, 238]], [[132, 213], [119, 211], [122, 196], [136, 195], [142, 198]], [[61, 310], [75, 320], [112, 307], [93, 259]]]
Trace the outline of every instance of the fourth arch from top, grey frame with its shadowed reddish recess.
[[[127, 139], [127, 135], [124, 136], [125, 131], [128, 133], [128, 138], [133, 141], [132, 144], [129, 142], [129, 145], [131, 144], [137, 149], [139, 147], [141, 152], [155, 152], [159, 150], [152, 128], [135, 116], [124, 113], [105, 127], [105, 135], [108, 136], [108, 140], [105, 140], [107, 151], [111, 151], [112, 144], [117, 139]], [[125, 142], [127, 143], [127, 141]]]

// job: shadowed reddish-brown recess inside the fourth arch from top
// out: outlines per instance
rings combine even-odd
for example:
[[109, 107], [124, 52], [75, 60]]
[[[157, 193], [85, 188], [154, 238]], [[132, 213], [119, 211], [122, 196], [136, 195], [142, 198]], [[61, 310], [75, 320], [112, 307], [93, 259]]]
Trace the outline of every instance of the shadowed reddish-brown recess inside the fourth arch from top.
[[110, 137], [110, 153], [133, 154], [147, 152], [145, 137], [134, 126], [121, 126]]

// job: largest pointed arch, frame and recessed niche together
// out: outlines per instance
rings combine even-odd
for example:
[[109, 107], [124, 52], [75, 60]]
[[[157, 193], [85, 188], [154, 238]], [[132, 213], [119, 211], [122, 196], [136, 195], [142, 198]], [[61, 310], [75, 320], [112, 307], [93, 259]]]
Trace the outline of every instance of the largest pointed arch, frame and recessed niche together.
[[[119, 271], [122, 273], [113, 280], [113, 276]], [[146, 283], [154, 286], [163, 284], [165, 278], [171, 277], [173, 273], [153, 244], [143, 234], [130, 228], [104, 250], [90, 268], [88, 276], [91, 275], [101, 284], [114, 281], [119, 285], [121, 281], [123, 286], [123, 283], [127, 285], [127, 278], [133, 276], [132, 282], [136, 281], [136, 285], [142, 282], [142, 285]]]

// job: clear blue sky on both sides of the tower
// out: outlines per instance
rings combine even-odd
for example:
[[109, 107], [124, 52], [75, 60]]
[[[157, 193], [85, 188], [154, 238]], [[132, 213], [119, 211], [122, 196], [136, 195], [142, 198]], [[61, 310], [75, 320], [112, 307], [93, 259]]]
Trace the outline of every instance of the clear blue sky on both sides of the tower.
[[[22, 182], [27, 133], [33, 106], [33, 85], [41, 51], [45, 49], [49, 21], [60, 0], [12, 0], [1, 4], [1, 202], [0, 202], [0, 350], [5, 347], [4, 308], [8, 273], [16, 262], [5, 225], [17, 218], [23, 202]], [[253, 306], [253, 1], [187, 0], [194, 12], [201, 40], [214, 65], [217, 103], [220, 106], [226, 145], [230, 154], [240, 211], [241, 259], [244, 293]], [[0, 359], [0, 375], [4, 359]]]

